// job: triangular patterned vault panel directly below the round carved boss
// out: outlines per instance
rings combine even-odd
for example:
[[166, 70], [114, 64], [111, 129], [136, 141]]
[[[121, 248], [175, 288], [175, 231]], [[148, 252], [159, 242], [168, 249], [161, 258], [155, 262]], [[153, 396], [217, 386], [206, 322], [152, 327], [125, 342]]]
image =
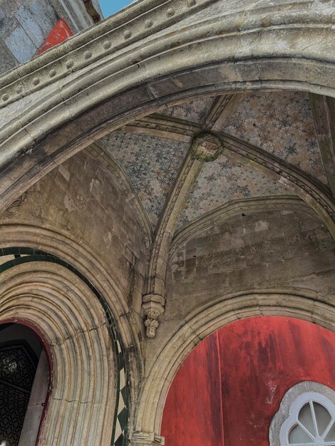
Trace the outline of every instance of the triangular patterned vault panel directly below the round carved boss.
[[202, 167], [177, 229], [232, 199], [289, 194], [289, 190], [250, 167], [221, 155]]

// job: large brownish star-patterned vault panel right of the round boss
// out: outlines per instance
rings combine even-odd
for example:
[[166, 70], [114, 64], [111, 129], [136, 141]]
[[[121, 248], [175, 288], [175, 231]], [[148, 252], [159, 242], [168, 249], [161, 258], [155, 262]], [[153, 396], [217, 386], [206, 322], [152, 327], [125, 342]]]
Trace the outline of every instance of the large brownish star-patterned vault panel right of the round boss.
[[230, 118], [225, 133], [267, 150], [326, 184], [306, 93], [247, 95]]

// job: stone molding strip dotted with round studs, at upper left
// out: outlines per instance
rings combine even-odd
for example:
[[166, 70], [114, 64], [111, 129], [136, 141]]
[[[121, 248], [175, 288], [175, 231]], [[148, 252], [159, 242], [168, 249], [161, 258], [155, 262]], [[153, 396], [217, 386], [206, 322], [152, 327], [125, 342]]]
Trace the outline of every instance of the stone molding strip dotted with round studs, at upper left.
[[[56, 3], [56, 0], [53, 1]], [[58, 0], [57, 4], [64, 9], [66, 2], [72, 9], [71, 0]], [[0, 108], [68, 76], [68, 73], [90, 66], [101, 54], [104, 57], [113, 55], [131, 43], [177, 23], [190, 14], [190, 11], [197, 11], [212, 3], [215, 3], [215, 0], [136, 1], [103, 24], [98, 24], [36, 60], [17, 67], [15, 72], [5, 74], [0, 78]], [[51, 70], [56, 71], [53, 76]], [[11, 84], [10, 89], [6, 84]], [[9, 95], [9, 98], [4, 98], [4, 95]]]

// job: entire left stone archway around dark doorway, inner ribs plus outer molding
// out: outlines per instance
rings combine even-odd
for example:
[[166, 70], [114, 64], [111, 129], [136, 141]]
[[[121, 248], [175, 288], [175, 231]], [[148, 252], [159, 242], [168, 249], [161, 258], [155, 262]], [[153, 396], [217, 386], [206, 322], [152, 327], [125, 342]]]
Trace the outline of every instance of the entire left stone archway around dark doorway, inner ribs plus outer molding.
[[[123, 403], [128, 413], [134, 400], [142, 358], [118, 287], [100, 259], [62, 234], [19, 224], [1, 225], [0, 232], [6, 253], [20, 247], [14, 251], [23, 254], [2, 267], [1, 321], [20, 318], [35, 326], [54, 365], [41, 444], [63, 445], [71, 438], [73, 444], [109, 446], [120, 435]], [[126, 362], [122, 370], [120, 353]], [[121, 387], [124, 381], [127, 389]], [[73, 413], [77, 421], [71, 423]], [[127, 430], [127, 423], [128, 415], [121, 428]]]

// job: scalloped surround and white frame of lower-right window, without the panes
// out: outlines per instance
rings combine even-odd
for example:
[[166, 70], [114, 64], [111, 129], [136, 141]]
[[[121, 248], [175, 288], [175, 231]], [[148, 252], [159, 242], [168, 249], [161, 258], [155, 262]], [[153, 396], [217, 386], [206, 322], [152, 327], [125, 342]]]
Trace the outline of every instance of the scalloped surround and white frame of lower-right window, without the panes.
[[[333, 446], [335, 441], [324, 442], [322, 437], [317, 442], [311, 440], [310, 443], [292, 444], [289, 443], [289, 433], [292, 428], [299, 424], [298, 416], [301, 408], [313, 401], [319, 403], [331, 416], [331, 422], [335, 421], [335, 392], [326, 385], [315, 383], [314, 381], [303, 381], [294, 385], [285, 393], [280, 403], [278, 412], [272, 419], [269, 429], [269, 445], [270, 446]], [[315, 420], [314, 420], [315, 422]], [[329, 429], [331, 428], [331, 423]], [[304, 429], [304, 427], [303, 427]]]

